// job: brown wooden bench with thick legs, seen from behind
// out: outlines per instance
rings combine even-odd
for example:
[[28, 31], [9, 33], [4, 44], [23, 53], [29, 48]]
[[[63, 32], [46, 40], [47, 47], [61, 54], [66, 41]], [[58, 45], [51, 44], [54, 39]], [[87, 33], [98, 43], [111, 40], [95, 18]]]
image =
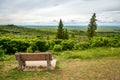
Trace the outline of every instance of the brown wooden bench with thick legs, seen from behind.
[[46, 61], [47, 69], [51, 69], [52, 54], [49, 52], [41, 53], [15, 53], [18, 60], [19, 70], [24, 70], [26, 67], [25, 61]]

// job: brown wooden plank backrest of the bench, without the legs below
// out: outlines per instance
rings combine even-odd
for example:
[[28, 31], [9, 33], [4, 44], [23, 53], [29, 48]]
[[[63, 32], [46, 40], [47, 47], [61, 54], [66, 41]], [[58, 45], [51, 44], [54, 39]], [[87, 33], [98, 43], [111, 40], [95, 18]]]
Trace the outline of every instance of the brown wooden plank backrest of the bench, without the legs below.
[[17, 60], [22, 61], [37, 61], [37, 60], [52, 60], [51, 53], [16, 53], [15, 54]]

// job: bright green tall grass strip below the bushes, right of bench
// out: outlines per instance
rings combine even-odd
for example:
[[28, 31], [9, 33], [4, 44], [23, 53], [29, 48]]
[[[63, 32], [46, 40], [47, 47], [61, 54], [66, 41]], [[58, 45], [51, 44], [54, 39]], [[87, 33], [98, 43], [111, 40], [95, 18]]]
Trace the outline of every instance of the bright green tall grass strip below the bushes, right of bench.
[[99, 59], [104, 57], [120, 57], [120, 48], [94, 48], [81, 51], [65, 51], [60, 53], [64, 58]]

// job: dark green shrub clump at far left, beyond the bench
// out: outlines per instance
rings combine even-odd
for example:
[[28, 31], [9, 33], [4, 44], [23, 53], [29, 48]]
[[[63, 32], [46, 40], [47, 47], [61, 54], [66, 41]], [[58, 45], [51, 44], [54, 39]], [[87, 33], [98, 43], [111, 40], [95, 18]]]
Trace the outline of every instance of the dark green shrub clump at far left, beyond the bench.
[[2, 46], [2, 49], [5, 50], [6, 54], [14, 54], [17, 52], [24, 52], [29, 47], [29, 43], [25, 40], [16, 40], [16, 39], [10, 39], [10, 38], [1, 38], [0, 39], [0, 45]]

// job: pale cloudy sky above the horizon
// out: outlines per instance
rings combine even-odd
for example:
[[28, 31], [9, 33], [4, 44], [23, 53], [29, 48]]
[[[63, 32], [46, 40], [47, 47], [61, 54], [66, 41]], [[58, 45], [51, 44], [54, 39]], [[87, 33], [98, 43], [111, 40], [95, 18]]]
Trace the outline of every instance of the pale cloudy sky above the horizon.
[[120, 0], [0, 0], [0, 24], [120, 24]]

